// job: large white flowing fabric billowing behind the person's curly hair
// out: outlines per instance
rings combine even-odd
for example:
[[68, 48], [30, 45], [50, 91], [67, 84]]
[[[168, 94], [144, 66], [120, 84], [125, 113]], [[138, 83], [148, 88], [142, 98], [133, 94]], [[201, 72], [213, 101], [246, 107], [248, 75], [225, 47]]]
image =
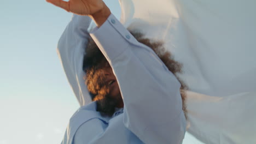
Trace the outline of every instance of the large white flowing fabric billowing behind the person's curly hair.
[[256, 143], [256, 1], [120, 0], [121, 22], [183, 64], [188, 131], [205, 143]]

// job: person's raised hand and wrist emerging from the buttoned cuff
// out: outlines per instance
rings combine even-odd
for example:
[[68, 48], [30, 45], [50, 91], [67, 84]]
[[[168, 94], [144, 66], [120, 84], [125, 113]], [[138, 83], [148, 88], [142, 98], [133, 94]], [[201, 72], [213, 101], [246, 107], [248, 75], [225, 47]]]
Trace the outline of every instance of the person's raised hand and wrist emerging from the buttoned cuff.
[[100, 27], [107, 17], [111, 14], [109, 8], [102, 0], [70, 0], [68, 2], [62, 0], [46, 0], [68, 12], [78, 15], [88, 15]]

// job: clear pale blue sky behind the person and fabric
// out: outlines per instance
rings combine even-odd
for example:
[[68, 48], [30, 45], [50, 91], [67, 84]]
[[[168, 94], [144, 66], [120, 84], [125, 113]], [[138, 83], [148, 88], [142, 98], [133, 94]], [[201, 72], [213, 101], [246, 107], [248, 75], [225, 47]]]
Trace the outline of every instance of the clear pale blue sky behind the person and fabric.
[[[106, 3], [120, 17], [118, 1]], [[44, 0], [1, 1], [0, 144], [61, 142], [79, 107], [56, 53], [71, 16]]]

